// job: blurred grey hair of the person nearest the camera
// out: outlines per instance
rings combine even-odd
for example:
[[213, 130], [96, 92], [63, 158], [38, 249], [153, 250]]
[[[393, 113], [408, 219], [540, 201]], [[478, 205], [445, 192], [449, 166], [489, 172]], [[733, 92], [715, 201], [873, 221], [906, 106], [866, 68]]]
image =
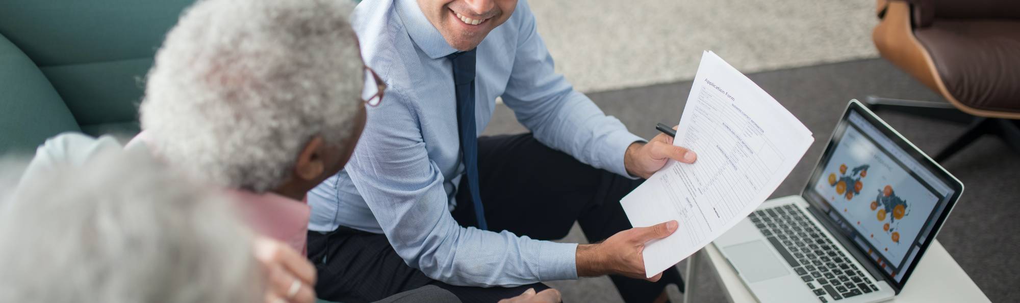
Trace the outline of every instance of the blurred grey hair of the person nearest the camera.
[[0, 178], [0, 302], [261, 300], [232, 201], [142, 152]]

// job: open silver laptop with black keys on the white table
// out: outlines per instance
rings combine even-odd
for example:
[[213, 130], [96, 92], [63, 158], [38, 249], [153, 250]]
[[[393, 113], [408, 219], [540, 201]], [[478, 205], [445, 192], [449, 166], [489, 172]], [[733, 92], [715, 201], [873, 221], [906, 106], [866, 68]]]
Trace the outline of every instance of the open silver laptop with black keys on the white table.
[[962, 192], [852, 100], [801, 194], [765, 201], [713, 244], [761, 302], [888, 300]]

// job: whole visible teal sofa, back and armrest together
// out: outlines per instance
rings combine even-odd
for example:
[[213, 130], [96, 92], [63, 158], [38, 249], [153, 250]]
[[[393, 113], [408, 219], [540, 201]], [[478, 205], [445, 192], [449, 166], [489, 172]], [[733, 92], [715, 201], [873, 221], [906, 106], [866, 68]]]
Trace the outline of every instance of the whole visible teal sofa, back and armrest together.
[[0, 2], [0, 155], [64, 131], [138, 132], [145, 74], [193, 2]]

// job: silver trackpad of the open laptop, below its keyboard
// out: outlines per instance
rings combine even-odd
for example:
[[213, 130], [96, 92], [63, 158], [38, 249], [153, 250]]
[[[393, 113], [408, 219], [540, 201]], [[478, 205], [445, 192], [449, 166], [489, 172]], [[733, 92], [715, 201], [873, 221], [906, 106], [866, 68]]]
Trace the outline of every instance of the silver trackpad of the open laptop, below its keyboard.
[[787, 265], [782, 263], [765, 245], [765, 241], [755, 240], [723, 248], [733, 267], [747, 279], [749, 283], [765, 281], [789, 274]]

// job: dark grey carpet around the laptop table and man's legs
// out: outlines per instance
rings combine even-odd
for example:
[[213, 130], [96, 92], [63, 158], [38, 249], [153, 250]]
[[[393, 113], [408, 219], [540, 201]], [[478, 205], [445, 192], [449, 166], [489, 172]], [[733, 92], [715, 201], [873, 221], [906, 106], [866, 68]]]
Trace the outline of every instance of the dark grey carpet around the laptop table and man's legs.
[[[835, 126], [847, 101], [868, 95], [886, 98], [942, 101], [940, 97], [881, 59], [759, 72], [749, 75], [785, 106], [815, 134], [815, 143], [794, 169], [786, 182], [772, 195], [796, 194], [803, 188], [810, 169]], [[651, 137], [656, 122], [679, 121], [691, 81], [589, 94], [607, 114], [616, 116], [634, 133]], [[964, 130], [964, 125], [906, 114], [882, 112], [882, 119], [928, 154], [940, 150]], [[505, 106], [499, 106], [486, 134], [526, 131]], [[1017, 285], [1020, 269], [1020, 154], [993, 136], [978, 139], [944, 163], [966, 185], [957, 208], [947, 221], [938, 240], [993, 302], [1020, 301]], [[564, 241], [582, 241], [579, 232]], [[682, 265], [683, 263], [681, 263]], [[710, 272], [710, 270], [701, 270]], [[695, 302], [723, 302], [714, 278], [687, 278], [704, 295]], [[607, 278], [554, 282], [570, 302], [619, 302]], [[908, 283], [907, 287], [910, 287]], [[673, 302], [679, 294], [671, 292]]]

